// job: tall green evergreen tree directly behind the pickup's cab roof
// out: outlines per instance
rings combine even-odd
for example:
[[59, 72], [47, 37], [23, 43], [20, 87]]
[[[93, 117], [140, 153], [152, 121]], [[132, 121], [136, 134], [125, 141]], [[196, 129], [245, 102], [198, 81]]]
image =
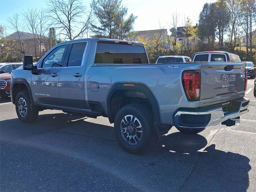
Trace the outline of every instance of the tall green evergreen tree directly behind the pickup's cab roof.
[[91, 8], [99, 23], [92, 25], [93, 37], [121, 40], [128, 38], [137, 17], [130, 14], [126, 19], [128, 9], [121, 3], [122, 0], [92, 0]]

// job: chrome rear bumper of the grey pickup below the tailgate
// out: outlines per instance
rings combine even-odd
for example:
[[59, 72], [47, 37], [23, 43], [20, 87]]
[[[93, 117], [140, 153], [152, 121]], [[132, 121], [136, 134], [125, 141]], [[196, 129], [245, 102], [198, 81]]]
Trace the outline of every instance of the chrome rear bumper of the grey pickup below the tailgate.
[[228, 119], [235, 119], [248, 112], [250, 100], [242, 98], [230, 101], [230, 108], [225, 111], [225, 104], [208, 106], [200, 109], [182, 109], [174, 116], [176, 128], [202, 129], [220, 124]]

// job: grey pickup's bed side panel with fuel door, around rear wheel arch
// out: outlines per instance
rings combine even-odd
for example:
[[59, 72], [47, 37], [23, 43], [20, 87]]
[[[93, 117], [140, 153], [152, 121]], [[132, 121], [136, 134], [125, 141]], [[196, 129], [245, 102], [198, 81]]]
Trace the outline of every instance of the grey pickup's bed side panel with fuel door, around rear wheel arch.
[[[169, 66], [179, 66], [171, 68]], [[198, 70], [201, 63], [146, 64], [119, 66], [91, 66], [88, 70], [88, 101], [100, 102], [107, 112], [106, 98], [112, 86], [118, 83], [145, 85], [158, 102], [162, 124], [173, 124], [173, 114], [178, 108], [196, 108], [200, 102], [189, 102], [182, 87], [182, 72]], [[90, 83], [98, 82], [99, 91], [92, 92]]]

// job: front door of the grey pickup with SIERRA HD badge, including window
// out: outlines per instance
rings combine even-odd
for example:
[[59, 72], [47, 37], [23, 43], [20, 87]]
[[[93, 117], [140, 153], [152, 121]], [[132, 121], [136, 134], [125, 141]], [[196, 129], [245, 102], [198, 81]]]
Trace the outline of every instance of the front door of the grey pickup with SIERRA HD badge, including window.
[[32, 75], [32, 94], [36, 104], [59, 105], [59, 76], [68, 45], [52, 50], [38, 64], [38, 74]]

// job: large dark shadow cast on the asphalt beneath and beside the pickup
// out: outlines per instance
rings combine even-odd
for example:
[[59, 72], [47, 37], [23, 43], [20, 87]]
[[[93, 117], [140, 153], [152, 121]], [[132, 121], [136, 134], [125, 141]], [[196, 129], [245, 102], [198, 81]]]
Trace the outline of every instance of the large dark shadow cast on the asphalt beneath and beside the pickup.
[[[28, 129], [28, 132], [35, 130], [34, 135], [22, 135], [16, 142], [1, 147], [1, 174], [8, 175], [2, 178], [2, 190], [19, 188], [36, 191], [39, 190], [38, 183], [40, 190], [52, 191], [248, 189], [248, 172], [251, 169], [249, 158], [217, 150], [215, 144], [203, 152], [198, 151], [207, 145], [206, 138], [199, 134], [175, 132], [161, 136], [156, 148], [146, 154], [132, 155], [120, 148], [112, 126], [87, 120], [81, 115], [60, 113], [40, 115], [32, 124], [20, 123], [18, 119], [2, 121], [1, 132], [3, 126], [15, 131], [15, 126]], [[42, 128], [43, 132], [40, 130]], [[9, 162], [12, 162], [12, 167]], [[28, 166], [32, 170], [30, 174], [26, 171]], [[81, 171], [85, 168], [86, 172]], [[36, 177], [38, 172], [40, 177]], [[66, 174], [69, 176], [63, 176]], [[89, 176], [96, 183], [87, 182]], [[47, 182], [42, 183], [41, 178]], [[30, 185], [16, 184], [16, 180]], [[72, 184], [74, 181], [76, 185]], [[111, 185], [108, 186], [108, 183]]]

